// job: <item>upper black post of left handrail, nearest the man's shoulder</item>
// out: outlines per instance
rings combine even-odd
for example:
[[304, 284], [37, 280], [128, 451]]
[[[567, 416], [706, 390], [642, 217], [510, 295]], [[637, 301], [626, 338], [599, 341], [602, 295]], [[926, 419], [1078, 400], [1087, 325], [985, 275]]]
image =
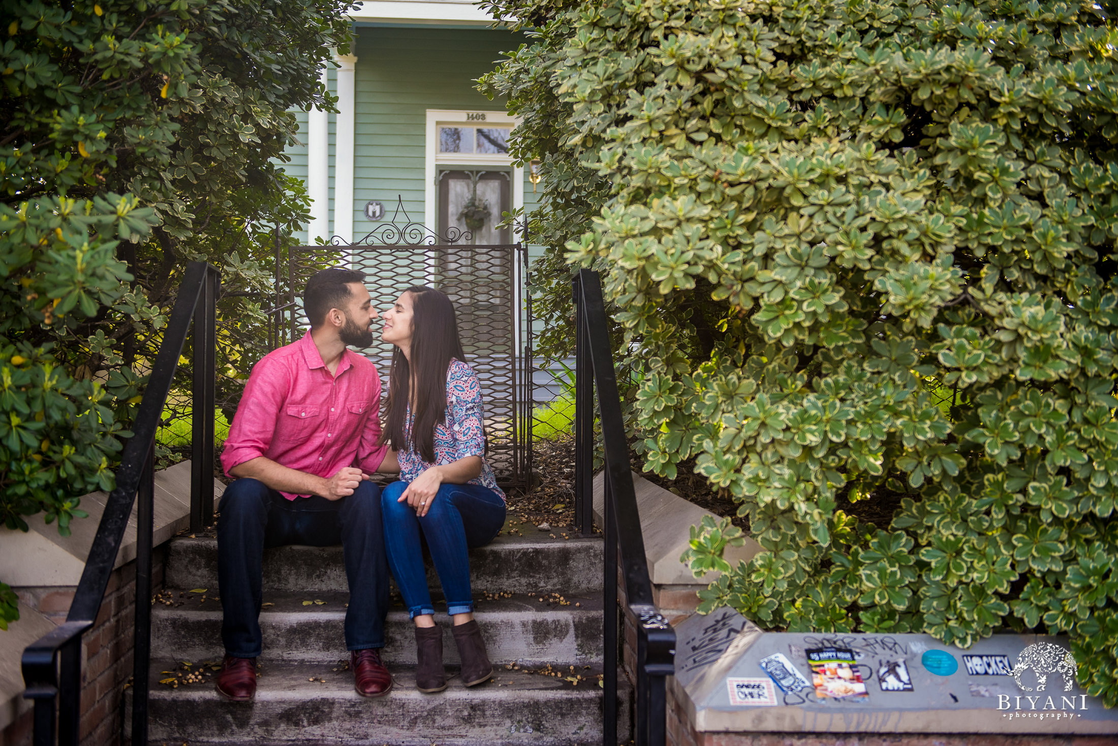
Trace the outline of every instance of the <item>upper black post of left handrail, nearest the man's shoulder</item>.
[[217, 270], [207, 267], [193, 318], [190, 530], [195, 533], [214, 523], [214, 369], [219, 281]]

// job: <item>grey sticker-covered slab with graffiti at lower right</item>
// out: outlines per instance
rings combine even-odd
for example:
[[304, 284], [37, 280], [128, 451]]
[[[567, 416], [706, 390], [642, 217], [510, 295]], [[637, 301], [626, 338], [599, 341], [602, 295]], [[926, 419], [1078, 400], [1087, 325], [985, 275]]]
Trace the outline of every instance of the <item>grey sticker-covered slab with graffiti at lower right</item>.
[[731, 609], [675, 631], [673, 695], [699, 731], [1118, 734], [1067, 640], [762, 632]]

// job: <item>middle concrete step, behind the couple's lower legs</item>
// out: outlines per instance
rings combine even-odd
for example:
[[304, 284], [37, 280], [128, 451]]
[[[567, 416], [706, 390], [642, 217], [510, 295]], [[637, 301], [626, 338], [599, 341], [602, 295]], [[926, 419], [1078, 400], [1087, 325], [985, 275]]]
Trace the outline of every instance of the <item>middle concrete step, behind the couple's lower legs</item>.
[[[176, 590], [164, 591], [162, 597], [172, 600], [176, 605], [157, 603], [152, 609], [152, 650], [179, 660], [219, 659], [222, 654], [220, 602], [209, 596], [202, 601], [201, 594]], [[521, 594], [490, 601], [475, 596], [475, 616], [485, 635], [490, 659], [501, 664], [600, 664], [600, 594], [563, 595], [569, 605], [540, 602], [539, 597]], [[306, 601], [311, 604], [304, 604]], [[349, 595], [345, 593], [265, 593], [264, 602], [273, 605], [265, 606], [260, 613], [262, 660], [324, 663], [345, 657], [342, 630], [347, 601]], [[440, 604], [436, 602], [435, 605]], [[436, 614], [436, 620], [444, 629], [445, 659], [457, 663], [449, 620], [444, 614]], [[389, 611], [385, 635], [387, 661], [415, 664], [415, 633], [402, 604]]]

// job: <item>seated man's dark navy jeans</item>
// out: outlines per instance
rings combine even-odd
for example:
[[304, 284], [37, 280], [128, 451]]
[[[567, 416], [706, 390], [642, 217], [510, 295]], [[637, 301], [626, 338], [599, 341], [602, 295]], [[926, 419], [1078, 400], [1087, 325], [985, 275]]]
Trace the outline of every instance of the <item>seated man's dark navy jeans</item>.
[[260, 654], [260, 585], [264, 549], [286, 544], [342, 545], [350, 602], [345, 648], [385, 647], [388, 563], [380, 490], [369, 481], [349, 497], [288, 500], [256, 479], [237, 479], [221, 496], [217, 522], [217, 576], [221, 641], [238, 658]]

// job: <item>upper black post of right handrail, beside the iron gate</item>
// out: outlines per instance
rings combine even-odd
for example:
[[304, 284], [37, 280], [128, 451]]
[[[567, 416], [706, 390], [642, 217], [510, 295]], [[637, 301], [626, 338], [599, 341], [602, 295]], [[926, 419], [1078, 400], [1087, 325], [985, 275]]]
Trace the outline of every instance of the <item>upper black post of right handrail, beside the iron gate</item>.
[[578, 275], [575, 296], [575, 526], [581, 536], [594, 533], [594, 365], [586, 339], [586, 308]]

